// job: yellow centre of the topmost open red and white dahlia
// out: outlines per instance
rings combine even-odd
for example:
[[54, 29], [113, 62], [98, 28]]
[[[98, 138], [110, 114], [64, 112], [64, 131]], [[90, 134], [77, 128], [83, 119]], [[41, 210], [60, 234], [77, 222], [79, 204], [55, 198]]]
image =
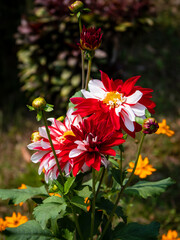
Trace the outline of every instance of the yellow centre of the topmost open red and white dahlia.
[[106, 97], [103, 99], [103, 103], [109, 105], [111, 108], [119, 107], [123, 102], [126, 101], [123, 93], [119, 92], [108, 92]]

